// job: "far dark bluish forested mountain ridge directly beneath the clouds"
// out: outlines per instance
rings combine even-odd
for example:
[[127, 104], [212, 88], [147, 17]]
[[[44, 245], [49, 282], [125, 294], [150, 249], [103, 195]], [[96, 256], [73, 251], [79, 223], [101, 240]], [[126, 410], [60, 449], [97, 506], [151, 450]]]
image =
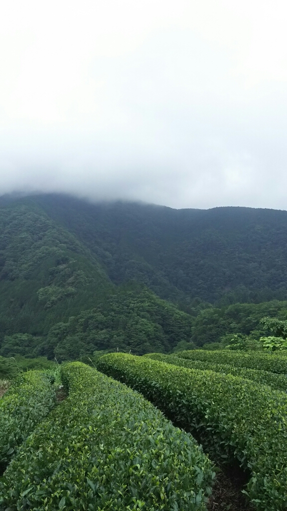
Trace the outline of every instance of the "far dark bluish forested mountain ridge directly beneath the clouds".
[[97, 255], [116, 284], [134, 278], [186, 304], [196, 297], [219, 305], [287, 298], [286, 211], [29, 200]]

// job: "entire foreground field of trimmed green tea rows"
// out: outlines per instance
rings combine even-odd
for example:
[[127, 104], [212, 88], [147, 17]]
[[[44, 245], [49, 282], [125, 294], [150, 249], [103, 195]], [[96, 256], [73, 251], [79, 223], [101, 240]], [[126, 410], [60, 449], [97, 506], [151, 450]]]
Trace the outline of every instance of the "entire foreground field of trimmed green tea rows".
[[0, 511], [205, 511], [234, 463], [251, 507], [287, 509], [286, 364], [110, 353], [63, 363], [61, 401], [51, 371], [19, 374], [0, 399]]

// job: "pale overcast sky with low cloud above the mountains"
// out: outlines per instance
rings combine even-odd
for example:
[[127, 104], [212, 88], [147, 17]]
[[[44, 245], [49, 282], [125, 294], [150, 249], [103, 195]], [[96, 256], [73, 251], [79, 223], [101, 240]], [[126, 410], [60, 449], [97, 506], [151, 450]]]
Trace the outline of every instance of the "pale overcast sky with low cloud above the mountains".
[[287, 209], [287, 5], [0, 10], [0, 194]]

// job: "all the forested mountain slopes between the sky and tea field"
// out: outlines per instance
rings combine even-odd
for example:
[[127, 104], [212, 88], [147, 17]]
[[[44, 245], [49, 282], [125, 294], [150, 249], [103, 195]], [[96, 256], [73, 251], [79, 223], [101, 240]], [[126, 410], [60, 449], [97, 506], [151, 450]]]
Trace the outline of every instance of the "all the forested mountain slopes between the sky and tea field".
[[0, 355], [258, 340], [286, 318], [286, 235], [284, 211], [2, 197]]

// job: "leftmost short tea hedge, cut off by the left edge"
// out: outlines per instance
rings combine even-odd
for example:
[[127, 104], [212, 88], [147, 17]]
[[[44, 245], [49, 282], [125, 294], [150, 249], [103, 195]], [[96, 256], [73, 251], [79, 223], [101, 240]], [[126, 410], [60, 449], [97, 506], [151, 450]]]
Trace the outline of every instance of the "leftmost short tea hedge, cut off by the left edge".
[[51, 378], [41, 371], [20, 374], [0, 399], [0, 466], [55, 404]]

